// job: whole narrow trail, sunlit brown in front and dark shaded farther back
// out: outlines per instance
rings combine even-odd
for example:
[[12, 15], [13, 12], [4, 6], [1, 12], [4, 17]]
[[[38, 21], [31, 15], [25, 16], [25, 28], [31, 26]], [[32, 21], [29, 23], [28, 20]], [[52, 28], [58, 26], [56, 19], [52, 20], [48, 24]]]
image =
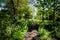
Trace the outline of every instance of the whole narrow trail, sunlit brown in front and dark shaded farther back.
[[40, 34], [38, 32], [38, 24], [33, 22], [26, 33], [24, 40], [40, 40]]

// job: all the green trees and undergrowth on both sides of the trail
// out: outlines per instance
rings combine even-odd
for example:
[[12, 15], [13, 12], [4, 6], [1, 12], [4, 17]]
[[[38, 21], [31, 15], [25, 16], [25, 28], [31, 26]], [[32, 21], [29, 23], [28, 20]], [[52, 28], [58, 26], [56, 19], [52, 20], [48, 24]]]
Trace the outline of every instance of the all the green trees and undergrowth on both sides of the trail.
[[8, 10], [0, 11], [0, 40], [23, 40], [33, 22], [38, 24], [41, 40], [59, 40], [60, 1], [37, 0], [34, 18], [28, 5], [28, 0], [6, 0]]

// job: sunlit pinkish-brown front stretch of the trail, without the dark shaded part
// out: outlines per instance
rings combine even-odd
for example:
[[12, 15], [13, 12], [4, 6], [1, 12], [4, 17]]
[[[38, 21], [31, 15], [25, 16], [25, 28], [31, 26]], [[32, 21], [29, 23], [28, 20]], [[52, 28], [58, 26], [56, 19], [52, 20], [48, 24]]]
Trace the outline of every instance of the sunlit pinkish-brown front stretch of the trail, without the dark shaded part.
[[24, 40], [40, 40], [40, 35], [37, 30], [32, 30], [26, 33]]

